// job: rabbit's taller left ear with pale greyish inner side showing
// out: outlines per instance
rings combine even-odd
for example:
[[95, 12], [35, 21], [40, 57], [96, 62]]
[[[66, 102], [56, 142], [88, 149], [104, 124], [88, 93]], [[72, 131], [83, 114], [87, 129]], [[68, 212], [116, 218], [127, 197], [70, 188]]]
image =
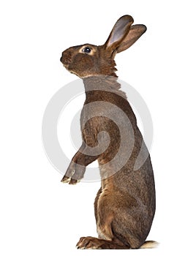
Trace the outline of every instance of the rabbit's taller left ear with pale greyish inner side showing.
[[105, 42], [105, 48], [113, 52], [121, 44], [122, 40], [127, 36], [130, 26], [133, 23], [132, 16], [124, 15], [116, 21], [113, 30]]

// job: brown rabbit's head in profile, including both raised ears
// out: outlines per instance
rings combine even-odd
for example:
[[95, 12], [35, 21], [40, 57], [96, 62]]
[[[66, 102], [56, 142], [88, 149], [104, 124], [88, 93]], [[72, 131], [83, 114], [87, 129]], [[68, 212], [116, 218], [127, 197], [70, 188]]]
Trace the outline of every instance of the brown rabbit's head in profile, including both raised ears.
[[94, 75], [116, 76], [116, 53], [129, 48], [146, 31], [146, 26], [132, 26], [132, 23], [131, 16], [122, 16], [116, 21], [104, 45], [84, 44], [68, 48], [62, 53], [62, 64], [80, 78]]

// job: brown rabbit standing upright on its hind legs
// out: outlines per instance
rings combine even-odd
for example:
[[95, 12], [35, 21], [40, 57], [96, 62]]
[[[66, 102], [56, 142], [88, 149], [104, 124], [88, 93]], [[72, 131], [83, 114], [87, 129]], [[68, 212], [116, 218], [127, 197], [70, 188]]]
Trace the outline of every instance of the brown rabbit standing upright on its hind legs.
[[83, 79], [86, 90], [80, 116], [83, 144], [61, 181], [76, 184], [96, 159], [102, 178], [94, 202], [99, 238], [80, 238], [78, 249], [137, 249], [157, 244], [146, 241], [155, 212], [151, 159], [115, 73], [116, 53], [146, 31], [146, 26], [132, 23], [132, 17], [124, 15], [104, 45], [74, 46], [61, 57], [64, 67]]

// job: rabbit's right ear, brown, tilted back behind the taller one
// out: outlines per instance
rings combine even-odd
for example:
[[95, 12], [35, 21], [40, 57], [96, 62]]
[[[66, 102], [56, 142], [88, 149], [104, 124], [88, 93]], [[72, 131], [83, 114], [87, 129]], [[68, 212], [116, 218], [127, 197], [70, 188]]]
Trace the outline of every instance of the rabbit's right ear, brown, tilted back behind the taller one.
[[129, 33], [127, 36], [121, 41], [121, 44], [116, 48], [117, 53], [120, 53], [123, 50], [127, 50], [130, 46], [132, 46], [137, 39], [141, 37], [141, 35], [146, 32], [146, 26], [144, 25], [133, 25], [130, 27]]

